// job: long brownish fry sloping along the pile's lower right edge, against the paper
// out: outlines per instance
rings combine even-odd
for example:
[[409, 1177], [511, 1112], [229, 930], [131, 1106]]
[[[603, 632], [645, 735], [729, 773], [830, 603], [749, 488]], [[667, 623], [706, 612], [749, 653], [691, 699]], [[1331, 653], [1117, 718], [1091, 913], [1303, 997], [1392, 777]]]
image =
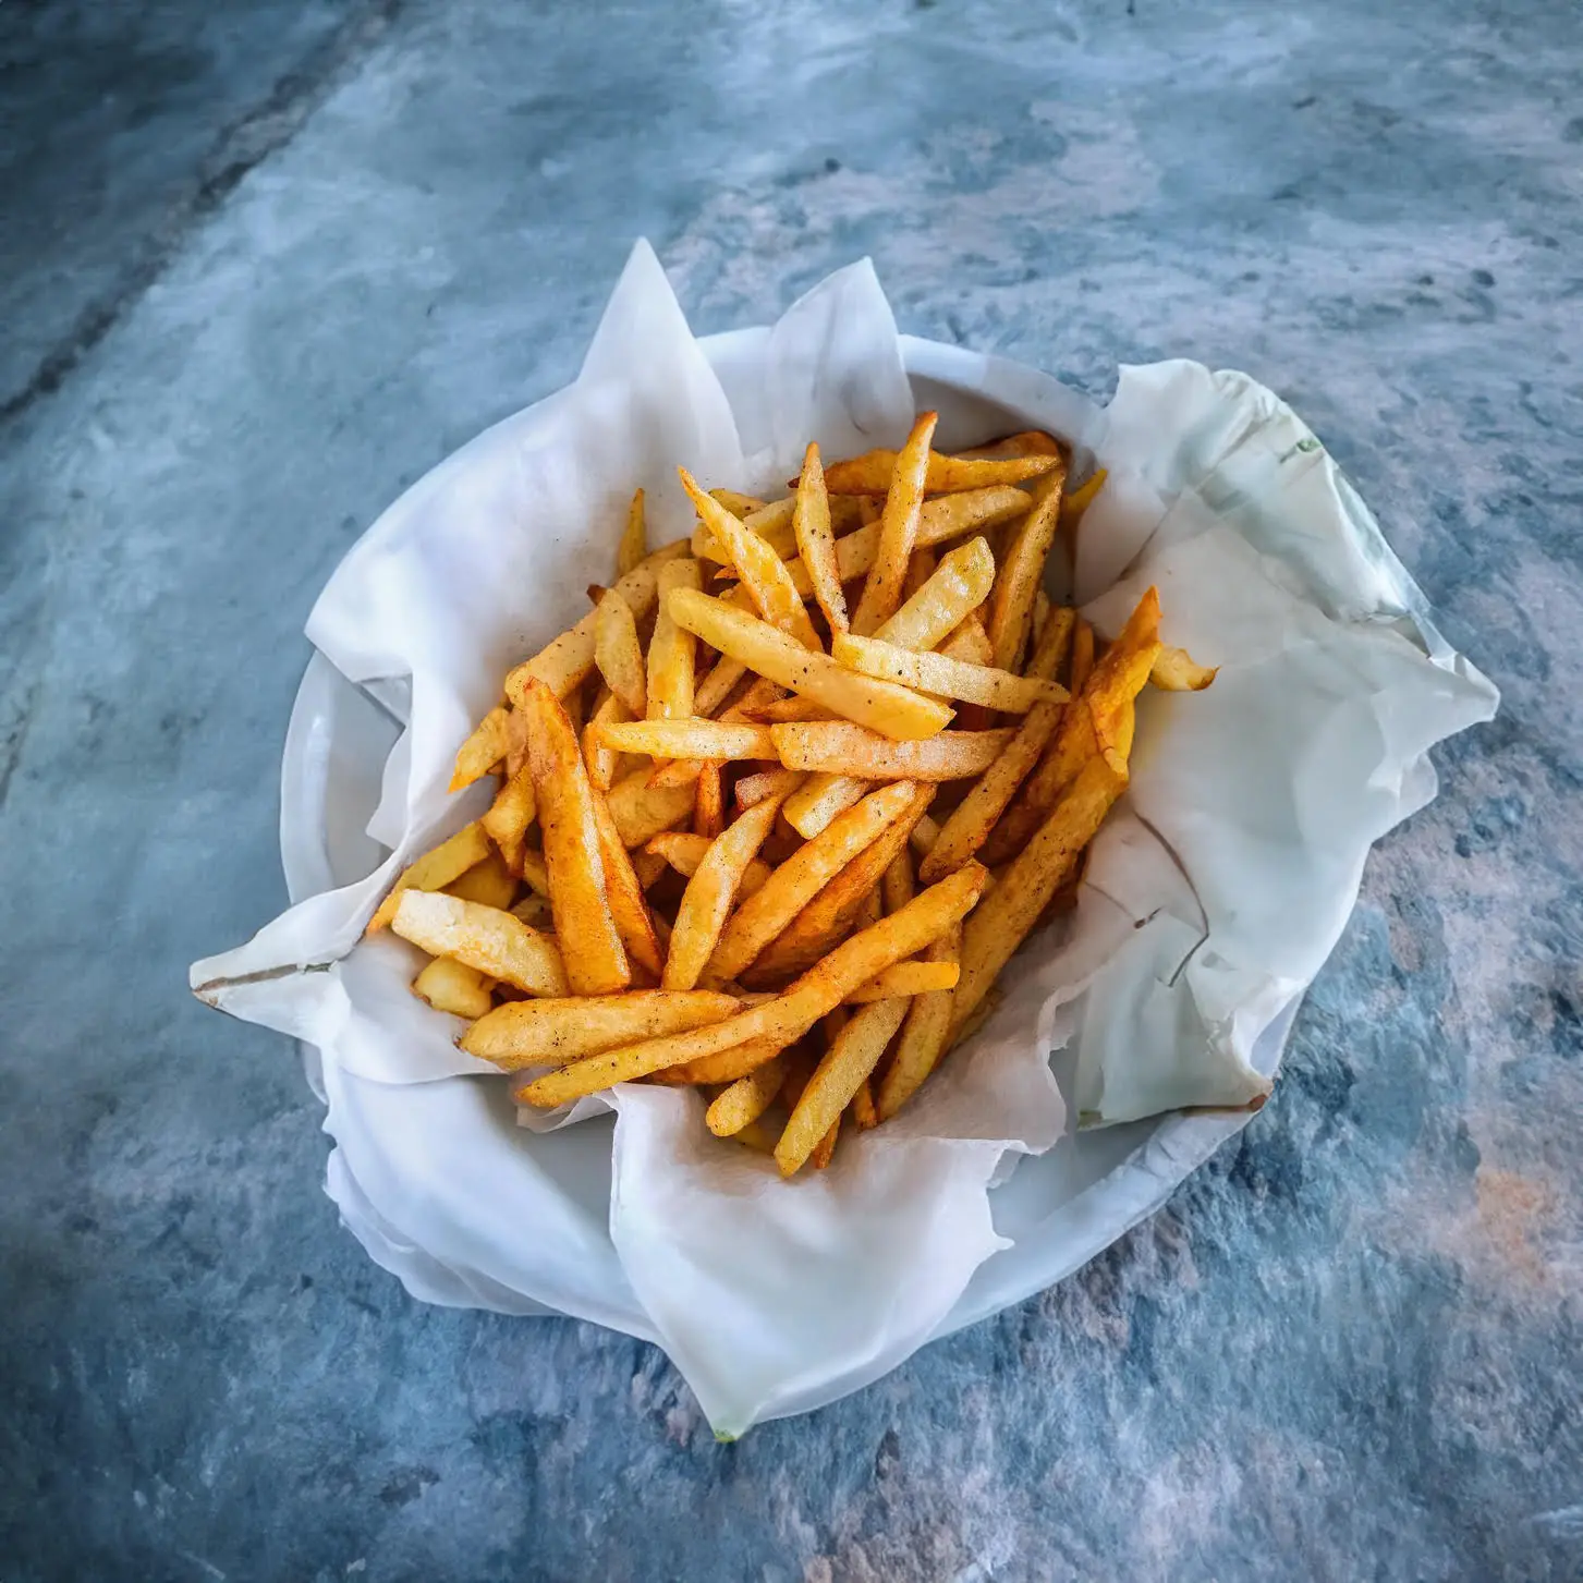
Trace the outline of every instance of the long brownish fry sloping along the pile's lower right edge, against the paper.
[[[1126, 790], [1126, 776], [1094, 757], [1018, 853], [1000, 882], [962, 929], [962, 977], [951, 1004], [951, 1029], [959, 1029], [999, 977], [1073, 872], [1083, 848], [1099, 833], [1111, 804]], [[961, 872], [961, 871], [958, 871]]]

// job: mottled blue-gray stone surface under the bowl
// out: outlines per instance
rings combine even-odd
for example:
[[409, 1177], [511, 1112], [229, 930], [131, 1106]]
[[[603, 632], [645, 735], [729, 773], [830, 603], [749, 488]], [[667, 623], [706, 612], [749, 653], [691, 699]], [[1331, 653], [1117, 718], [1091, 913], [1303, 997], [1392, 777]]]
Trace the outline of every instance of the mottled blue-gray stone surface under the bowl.
[[[1583, 13], [1561, 0], [0, 6], [0, 1578], [1583, 1577]], [[1065, 1285], [716, 1445], [423, 1308], [285, 1040], [302, 621], [564, 383], [871, 253], [1103, 399], [1285, 394], [1504, 692], [1273, 1102]]]

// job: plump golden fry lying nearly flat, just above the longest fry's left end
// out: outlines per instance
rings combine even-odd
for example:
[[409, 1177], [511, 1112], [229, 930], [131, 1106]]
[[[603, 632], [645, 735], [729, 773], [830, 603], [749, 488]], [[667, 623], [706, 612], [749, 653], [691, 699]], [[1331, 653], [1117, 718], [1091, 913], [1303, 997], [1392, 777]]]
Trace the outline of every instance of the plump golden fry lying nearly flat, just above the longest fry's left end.
[[564, 1067], [568, 1061], [638, 1038], [723, 1023], [741, 1008], [731, 996], [708, 989], [685, 994], [628, 989], [625, 994], [507, 1000], [488, 1016], [480, 1016], [457, 1043], [467, 1054], [492, 1061], [502, 1072]]

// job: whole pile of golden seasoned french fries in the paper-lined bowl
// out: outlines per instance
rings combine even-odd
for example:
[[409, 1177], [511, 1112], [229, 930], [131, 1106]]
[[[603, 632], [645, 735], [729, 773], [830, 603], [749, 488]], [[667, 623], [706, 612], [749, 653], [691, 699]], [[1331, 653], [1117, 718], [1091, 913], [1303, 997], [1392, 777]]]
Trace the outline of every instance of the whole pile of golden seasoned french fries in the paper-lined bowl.
[[614, 584], [462, 744], [453, 790], [497, 774], [494, 804], [369, 931], [431, 953], [413, 991], [519, 1103], [695, 1084], [719, 1137], [828, 1165], [1070, 904], [1143, 685], [1213, 681], [1152, 589], [1103, 649], [1045, 595], [1103, 473], [934, 426], [828, 472], [810, 445], [780, 500], [682, 470], [697, 527], [652, 552], [640, 491]]

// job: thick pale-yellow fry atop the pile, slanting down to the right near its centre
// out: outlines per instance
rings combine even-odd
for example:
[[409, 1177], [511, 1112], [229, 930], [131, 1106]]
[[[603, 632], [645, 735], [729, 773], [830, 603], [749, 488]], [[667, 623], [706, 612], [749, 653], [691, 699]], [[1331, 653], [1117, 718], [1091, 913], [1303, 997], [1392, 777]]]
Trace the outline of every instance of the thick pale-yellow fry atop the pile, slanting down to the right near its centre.
[[[768, 622], [708, 594], [679, 587], [666, 597], [666, 609], [679, 627], [697, 633], [722, 654], [742, 660], [760, 676], [790, 687], [804, 698], [814, 698], [848, 720], [871, 725], [885, 736], [932, 736], [951, 717], [943, 704], [920, 698], [894, 682], [853, 676], [828, 654], [804, 649]], [[654, 674], [652, 651], [649, 674]]]

